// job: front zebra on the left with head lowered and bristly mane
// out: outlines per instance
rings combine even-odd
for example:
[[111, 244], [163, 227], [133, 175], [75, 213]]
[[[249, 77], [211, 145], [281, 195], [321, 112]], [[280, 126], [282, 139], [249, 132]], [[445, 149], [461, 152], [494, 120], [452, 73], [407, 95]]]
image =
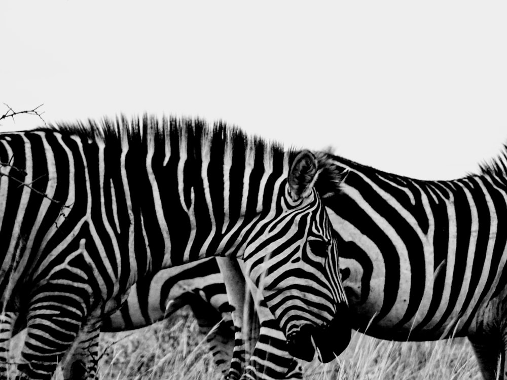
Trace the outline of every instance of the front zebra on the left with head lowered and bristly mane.
[[222, 123], [122, 116], [3, 133], [0, 168], [3, 377], [21, 318], [19, 378], [49, 379], [58, 363], [66, 378], [93, 378], [101, 318], [129, 288], [214, 255], [242, 259], [253, 283], [264, 280], [296, 357], [308, 355], [312, 337], [341, 337], [317, 346], [324, 358], [350, 339], [309, 151]]

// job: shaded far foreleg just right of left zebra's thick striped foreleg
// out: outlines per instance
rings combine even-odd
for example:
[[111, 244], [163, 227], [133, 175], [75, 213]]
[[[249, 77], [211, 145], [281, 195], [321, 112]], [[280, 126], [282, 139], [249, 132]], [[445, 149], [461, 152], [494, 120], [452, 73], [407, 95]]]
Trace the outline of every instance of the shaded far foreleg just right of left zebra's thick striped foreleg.
[[98, 364], [100, 314], [88, 318], [61, 361], [64, 380], [95, 378]]

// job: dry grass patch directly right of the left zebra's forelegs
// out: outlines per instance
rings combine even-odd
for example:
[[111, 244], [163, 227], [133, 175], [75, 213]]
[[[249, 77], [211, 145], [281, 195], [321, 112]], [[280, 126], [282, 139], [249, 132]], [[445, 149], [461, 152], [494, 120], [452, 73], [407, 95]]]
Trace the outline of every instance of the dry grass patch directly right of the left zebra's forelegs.
[[102, 334], [104, 380], [219, 380], [197, 323], [187, 313], [128, 333]]

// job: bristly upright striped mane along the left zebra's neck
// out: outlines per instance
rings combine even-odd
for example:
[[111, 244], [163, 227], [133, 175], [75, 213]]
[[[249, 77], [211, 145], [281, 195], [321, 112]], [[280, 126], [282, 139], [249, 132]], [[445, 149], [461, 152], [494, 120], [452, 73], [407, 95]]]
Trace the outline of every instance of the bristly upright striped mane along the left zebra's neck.
[[[121, 144], [121, 146], [128, 145], [129, 148], [135, 146], [141, 149], [166, 144], [174, 148], [175, 141], [185, 140], [188, 149], [194, 148], [194, 157], [201, 156], [201, 146], [205, 145], [216, 151], [224, 152], [229, 149], [234, 150], [235, 154], [244, 152], [245, 157], [255, 152], [262, 152], [268, 160], [273, 154], [283, 151], [280, 143], [264, 140], [257, 135], [247, 135], [238, 127], [227, 126], [222, 121], [210, 127], [198, 118], [163, 117], [158, 119], [146, 113], [142, 118], [129, 119], [120, 115], [115, 119], [104, 118], [99, 122], [88, 119], [86, 122], [49, 124], [36, 131], [56, 131], [65, 135], [104, 141], [108, 146]], [[189, 150], [188, 154], [192, 154], [192, 151]]]

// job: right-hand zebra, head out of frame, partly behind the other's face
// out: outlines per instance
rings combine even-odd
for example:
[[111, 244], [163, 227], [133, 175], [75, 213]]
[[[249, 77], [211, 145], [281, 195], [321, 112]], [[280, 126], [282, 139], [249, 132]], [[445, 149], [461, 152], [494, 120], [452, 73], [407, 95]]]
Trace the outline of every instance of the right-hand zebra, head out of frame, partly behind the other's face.
[[[315, 156], [352, 328], [400, 341], [466, 336], [483, 377], [507, 379], [507, 145], [454, 180]], [[339, 190], [328, 187], [344, 171]]]

